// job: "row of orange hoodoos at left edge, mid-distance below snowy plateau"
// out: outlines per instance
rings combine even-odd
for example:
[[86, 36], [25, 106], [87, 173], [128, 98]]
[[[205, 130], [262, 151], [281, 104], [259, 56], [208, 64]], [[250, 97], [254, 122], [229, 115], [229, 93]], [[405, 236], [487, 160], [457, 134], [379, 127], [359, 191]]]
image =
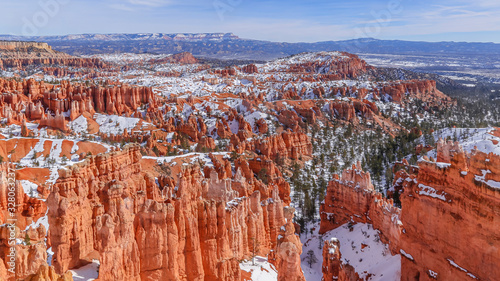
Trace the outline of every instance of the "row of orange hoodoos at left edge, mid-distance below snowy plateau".
[[0, 97], [0, 116], [7, 118], [8, 124], [29, 120], [63, 132], [68, 131], [65, 112], [72, 121], [96, 112], [142, 116], [137, 112], [141, 104], [148, 104], [149, 112], [157, 107], [151, 88], [127, 84], [88, 86], [62, 81], [54, 86], [34, 79], [0, 79], [0, 91], [4, 93]]

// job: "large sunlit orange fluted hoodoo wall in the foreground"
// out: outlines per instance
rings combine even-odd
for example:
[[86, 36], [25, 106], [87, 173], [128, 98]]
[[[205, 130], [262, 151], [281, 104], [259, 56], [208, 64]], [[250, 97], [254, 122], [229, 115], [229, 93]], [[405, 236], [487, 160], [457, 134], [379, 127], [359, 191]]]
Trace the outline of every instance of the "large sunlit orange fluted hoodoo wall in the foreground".
[[[260, 255], [279, 248], [287, 221], [277, 186], [265, 187], [267, 200], [259, 191], [238, 197], [241, 173], [205, 178], [195, 165], [157, 184], [140, 159], [129, 146], [60, 171], [47, 201], [56, 272], [98, 257], [99, 280], [240, 280], [254, 243]], [[294, 245], [298, 254], [288, 253], [298, 257]]]

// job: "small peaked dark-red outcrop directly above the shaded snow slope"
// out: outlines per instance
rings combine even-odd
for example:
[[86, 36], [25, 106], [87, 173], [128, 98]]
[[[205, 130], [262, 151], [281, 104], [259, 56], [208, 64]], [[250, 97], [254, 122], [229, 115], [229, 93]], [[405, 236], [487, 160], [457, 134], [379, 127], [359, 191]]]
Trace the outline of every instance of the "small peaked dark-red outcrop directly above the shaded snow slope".
[[348, 222], [370, 223], [381, 232], [380, 238], [391, 252], [399, 252], [401, 209], [374, 190], [370, 173], [364, 172], [360, 163], [330, 181], [320, 216], [321, 234]]

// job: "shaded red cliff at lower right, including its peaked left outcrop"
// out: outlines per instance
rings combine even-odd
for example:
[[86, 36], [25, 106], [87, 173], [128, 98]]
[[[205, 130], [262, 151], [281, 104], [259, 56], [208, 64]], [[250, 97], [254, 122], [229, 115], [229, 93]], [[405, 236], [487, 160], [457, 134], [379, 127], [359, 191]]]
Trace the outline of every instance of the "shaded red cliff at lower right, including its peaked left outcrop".
[[[328, 186], [320, 233], [346, 222], [371, 223], [391, 252], [402, 255], [401, 280], [495, 280], [500, 157], [477, 149], [467, 153], [458, 143], [440, 140], [437, 159], [395, 165], [402, 209], [373, 190], [368, 173], [357, 166], [345, 170]], [[335, 250], [326, 253], [329, 259], [324, 256], [326, 278], [340, 276]]]

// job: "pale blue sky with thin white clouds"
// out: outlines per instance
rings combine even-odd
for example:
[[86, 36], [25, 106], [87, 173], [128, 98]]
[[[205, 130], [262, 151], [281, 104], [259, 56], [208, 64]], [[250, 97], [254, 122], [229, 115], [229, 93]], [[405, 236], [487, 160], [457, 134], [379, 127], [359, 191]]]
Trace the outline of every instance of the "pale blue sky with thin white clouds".
[[318, 42], [354, 38], [500, 43], [500, 0], [2, 0], [0, 34], [232, 32]]

